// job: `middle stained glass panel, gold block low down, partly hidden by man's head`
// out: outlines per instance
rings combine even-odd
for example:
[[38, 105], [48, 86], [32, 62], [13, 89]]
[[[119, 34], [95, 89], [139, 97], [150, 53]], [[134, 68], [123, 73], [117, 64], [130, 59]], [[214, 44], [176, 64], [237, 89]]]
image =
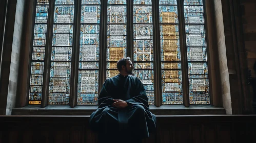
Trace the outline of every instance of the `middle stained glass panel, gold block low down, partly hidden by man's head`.
[[126, 1], [108, 1], [107, 78], [119, 74], [116, 62], [126, 57]]

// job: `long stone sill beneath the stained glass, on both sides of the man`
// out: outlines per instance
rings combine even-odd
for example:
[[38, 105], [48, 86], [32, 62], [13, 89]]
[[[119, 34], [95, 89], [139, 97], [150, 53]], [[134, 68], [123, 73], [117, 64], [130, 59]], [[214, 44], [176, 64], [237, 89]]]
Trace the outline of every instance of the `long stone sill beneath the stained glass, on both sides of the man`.
[[[42, 108], [40, 105], [28, 105], [26, 107], [12, 109], [12, 115], [90, 115], [98, 106], [75, 106], [68, 105], [48, 105]], [[150, 111], [155, 115], [213, 115], [226, 114], [223, 107], [211, 105], [162, 105], [156, 107], [149, 106]]]

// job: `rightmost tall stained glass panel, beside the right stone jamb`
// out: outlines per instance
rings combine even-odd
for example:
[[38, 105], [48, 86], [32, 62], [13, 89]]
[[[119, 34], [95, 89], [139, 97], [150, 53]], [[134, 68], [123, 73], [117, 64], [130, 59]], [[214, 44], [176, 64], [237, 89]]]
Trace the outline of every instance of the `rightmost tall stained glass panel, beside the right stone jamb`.
[[190, 104], [210, 104], [207, 48], [202, 0], [185, 0]]

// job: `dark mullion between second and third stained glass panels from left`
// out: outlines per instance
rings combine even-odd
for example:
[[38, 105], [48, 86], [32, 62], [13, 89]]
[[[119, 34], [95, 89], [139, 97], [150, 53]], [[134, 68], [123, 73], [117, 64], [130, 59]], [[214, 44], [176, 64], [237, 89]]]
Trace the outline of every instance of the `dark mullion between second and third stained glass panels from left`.
[[72, 48], [72, 67], [70, 78], [70, 107], [76, 106], [77, 103], [77, 82], [78, 82], [78, 60], [79, 60], [79, 48], [80, 48], [80, 23], [81, 23], [81, 1], [74, 1], [74, 36], [73, 36], [73, 48]]

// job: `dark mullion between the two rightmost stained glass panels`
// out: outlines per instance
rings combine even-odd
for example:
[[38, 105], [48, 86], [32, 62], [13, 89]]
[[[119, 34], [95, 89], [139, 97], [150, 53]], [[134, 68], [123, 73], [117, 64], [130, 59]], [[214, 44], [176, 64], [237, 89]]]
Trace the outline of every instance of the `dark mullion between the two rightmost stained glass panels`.
[[184, 20], [184, 2], [178, 1], [179, 10], [179, 28], [180, 28], [180, 44], [181, 44], [181, 63], [182, 63], [182, 89], [183, 89], [183, 105], [189, 107], [189, 90], [188, 90], [188, 65], [186, 50], [186, 31]]

